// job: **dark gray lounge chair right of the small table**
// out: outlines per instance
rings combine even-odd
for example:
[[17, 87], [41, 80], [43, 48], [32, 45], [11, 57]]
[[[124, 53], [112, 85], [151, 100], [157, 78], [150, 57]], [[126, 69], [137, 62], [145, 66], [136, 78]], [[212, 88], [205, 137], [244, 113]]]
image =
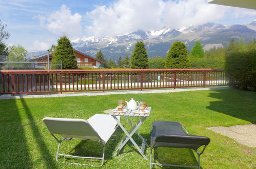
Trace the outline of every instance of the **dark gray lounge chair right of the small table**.
[[[208, 137], [189, 135], [179, 122], [153, 121], [150, 134], [150, 168], [152, 164], [200, 168], [200, 155], [204, 152], [209, 142], [210, 139]], [[202, 145], [204, 145], [204, 148], [199, 153], [198, 148]], [[198, 166], [152, 163], [152, 150], [154, 147], [193, 149], [198, 154]]]

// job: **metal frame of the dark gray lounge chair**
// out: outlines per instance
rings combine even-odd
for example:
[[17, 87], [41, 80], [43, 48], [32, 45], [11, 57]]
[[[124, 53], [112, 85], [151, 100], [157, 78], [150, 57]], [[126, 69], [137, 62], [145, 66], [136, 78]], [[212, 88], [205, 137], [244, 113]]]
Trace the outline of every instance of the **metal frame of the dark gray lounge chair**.
[[[166, 122], [167, 122], [167, 121], [166, 121]], [[170, 122], [170, 121], [168, 121], [168, 122]], [[176, 123], [176, 124], [177, 124], [177, 122], [171, 122], [171, 123]], [[178, 124], [180, 124], [180, 123], [178, 123]], [[181, 125], [181, 124], [180, 124], [180, 125]], [[169, 126], [170, 126], [170, 128], [172, 127], [172, 125], [169, 125]], [[182, 128], [183, 132], [184, 132], [186, 135], [189, 135], [188, 131], [187, 131], [182, 125], [181, 125], [181, 128]], [[152, 130], [153, 130], [153, 124], [151, 125], [151, 132], [152, 132]], [[174, 134], [174, 135], [176, 135], [176, 134]], [[162, 135], [162, 136], [163, 136], [163, 135]], [[170, 136], [171, 136], [171, 135], [170, 135]], [[176, 136], [179, 136], [179, 135], [176, 135]], [[189, 136], [191, 136], [191, 135], [189, 135]], [[159, 137], [161, 137], [161, 135], [159, 135]], [[165, 137], [168, 137], [168, 135], [165, 135]], [[194, 137], [195, 137], [195, 138], [196, 138], [196, 137], [201, 137], [201, 138], [202, 138], [202, 136], [194, 136]], [[157, 136], [156, 136], [156, 138], [157, 138]], [[209, 139], [209, 138], [208, 138], [208, 137], [205, 137], [205, 139]], [[154, 149], [156, 143], [157, 143], [157, 141], [156, 141], [156, 139], [155, 139], [154, 142], [151, 143], [151, 146], [150, 146], [150, 166], [149, 166], [149, 168], [152, 168], [152, 165], [166, 165], [166, 166], [179, 166], [179, 167], [200, 168], [200, 156], [204, 153], [204, 151], [205, 151], [205, 149], [206, 149], [206, 146], [208, 145], [209, 142], [204, 145], [204, 148], [203, 148], [203, 150], [202, 150], [201, 153], [198, 151], [198, 149], [199, 149], [199, 147], [201, 147], [202, 145], [200, 145], [200, 146], [199, 146], [198, 148], [196, 148], [196, 149], [192, 149], [192, 150], [194, 150], [195, 153], [198, 155], [198, 165], [197, 165], [197, 166], [153, 163], [153, 162], [152, 162], [152, 151], [153, 151], [153, 149]], [[161, 146], [160, 146], [160, 147], [161, 147]], [[167, 146], [167, 147], [168, 147], [168, 146]], [[170, 147], [171, 147], [171, 146], [170, 146]], [[184, 147], [184, 148], [188, 148], [188, 147]], [[188, 148], [188, 149], [191, 149], [191, 148]]]

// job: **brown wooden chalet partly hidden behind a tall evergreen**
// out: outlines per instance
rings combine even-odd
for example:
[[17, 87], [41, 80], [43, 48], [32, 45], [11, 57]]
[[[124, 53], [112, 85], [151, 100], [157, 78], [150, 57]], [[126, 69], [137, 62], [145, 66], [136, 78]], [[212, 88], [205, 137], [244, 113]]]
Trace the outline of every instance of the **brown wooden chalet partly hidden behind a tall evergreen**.
[[[52, 54], [53, 54], [53, 52], [49, 53], [50, 64], [53, 59]], [[102, 64], [104, 64], [103, 61], [96, 59], [92, 56], [89, 56], [83, 52], [77, 51], [75, 49], [74, 49], [74, 54], [75, 54], [75, 57], [77, 60], [78, 68], [83, 68], [83, 67], [99, 68]], [[47, 61], [47, 56], [48, 56], [48, 54], [46, 53], [46, 54], [43, 54], [36, 58], [30, 59], [29, 61]], [[44, 64], [44, 63], [37, 64], [37, 68], [45, 68], [45, 67], [47, 67], [47, 64]]]

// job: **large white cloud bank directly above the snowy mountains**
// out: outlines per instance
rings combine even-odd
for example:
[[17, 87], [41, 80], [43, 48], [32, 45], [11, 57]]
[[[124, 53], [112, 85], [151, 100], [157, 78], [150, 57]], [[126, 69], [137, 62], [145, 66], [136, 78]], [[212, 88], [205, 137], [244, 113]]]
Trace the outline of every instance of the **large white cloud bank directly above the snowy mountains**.
[[[86, 30], [89, 35], [111, 36], [164, 26], [181, 28], [214, 22], [231, 10], [232, 7], [207, 4], [207, 0], [118, 0], [87, 12], [92, 24]], [[237, 17], [242, 13], [255, 15], [247, 9], [235, 9], [233, 13]]]

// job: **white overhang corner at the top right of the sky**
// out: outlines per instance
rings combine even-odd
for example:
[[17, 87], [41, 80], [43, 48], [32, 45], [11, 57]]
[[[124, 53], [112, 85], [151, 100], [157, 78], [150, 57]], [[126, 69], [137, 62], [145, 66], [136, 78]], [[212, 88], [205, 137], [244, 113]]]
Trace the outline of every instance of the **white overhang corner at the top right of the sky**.
[[256, 9], [256, 0], [213, 0], [209, 4]]

